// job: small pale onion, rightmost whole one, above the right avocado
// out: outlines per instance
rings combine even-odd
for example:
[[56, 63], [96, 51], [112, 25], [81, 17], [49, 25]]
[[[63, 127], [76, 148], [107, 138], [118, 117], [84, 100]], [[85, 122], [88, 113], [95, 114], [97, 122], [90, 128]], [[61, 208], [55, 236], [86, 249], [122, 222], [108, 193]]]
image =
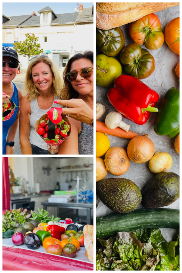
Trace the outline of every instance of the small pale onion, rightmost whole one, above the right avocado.
[[149, 161], [149, 169], [154, 174], [166, 172], [173, 164], [173, 159], [169, 153], [157, 152]]

